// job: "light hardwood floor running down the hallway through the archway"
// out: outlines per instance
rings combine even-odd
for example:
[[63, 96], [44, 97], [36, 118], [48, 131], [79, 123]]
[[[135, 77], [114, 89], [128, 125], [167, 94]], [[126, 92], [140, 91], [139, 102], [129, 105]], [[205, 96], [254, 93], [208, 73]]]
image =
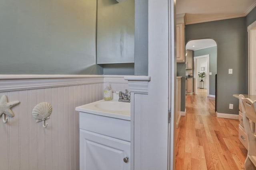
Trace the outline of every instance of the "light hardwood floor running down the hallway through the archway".
[[247, 150], [238, 140], [238, 124], [215, 117], [215, 98], [205, 90], [187, 95], [176, 133], [176, 170], [244, 169]]

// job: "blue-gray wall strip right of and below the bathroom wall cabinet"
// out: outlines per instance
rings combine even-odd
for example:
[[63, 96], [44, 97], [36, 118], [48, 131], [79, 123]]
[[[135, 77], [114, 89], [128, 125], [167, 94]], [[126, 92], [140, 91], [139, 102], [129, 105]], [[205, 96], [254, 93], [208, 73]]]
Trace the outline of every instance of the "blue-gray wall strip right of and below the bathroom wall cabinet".
[[148, 75], [148, 0], [135, 0], [134, 64], [104, 64], [104, 74]]

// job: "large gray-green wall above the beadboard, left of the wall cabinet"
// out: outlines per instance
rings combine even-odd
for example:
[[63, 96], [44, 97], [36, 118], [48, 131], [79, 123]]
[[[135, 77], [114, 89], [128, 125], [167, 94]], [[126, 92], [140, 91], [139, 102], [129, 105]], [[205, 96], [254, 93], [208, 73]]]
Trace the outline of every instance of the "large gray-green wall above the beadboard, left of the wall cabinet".
[[96, 0], [2, 0], [0, 74], [103, 74]]

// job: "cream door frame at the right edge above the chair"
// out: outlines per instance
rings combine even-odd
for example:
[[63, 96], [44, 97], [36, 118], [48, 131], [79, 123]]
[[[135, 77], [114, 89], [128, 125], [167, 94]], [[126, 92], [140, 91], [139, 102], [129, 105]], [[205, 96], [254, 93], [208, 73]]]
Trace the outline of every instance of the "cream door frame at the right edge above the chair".
[[[256, 94], [256, 68], [253, 63], [256, 62], [256, 21], [247, 27], [248, 31], [248, 94]], [[254, 57], [253, 57], [254, 56]]]

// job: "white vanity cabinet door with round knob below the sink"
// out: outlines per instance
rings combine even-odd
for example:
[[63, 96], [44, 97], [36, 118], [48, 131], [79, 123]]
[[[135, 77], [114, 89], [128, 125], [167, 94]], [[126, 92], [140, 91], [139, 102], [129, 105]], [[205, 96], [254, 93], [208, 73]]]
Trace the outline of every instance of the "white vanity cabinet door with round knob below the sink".
[[130, 170], [129, 158], [130, 142], [80, 129], [80, 170]]

